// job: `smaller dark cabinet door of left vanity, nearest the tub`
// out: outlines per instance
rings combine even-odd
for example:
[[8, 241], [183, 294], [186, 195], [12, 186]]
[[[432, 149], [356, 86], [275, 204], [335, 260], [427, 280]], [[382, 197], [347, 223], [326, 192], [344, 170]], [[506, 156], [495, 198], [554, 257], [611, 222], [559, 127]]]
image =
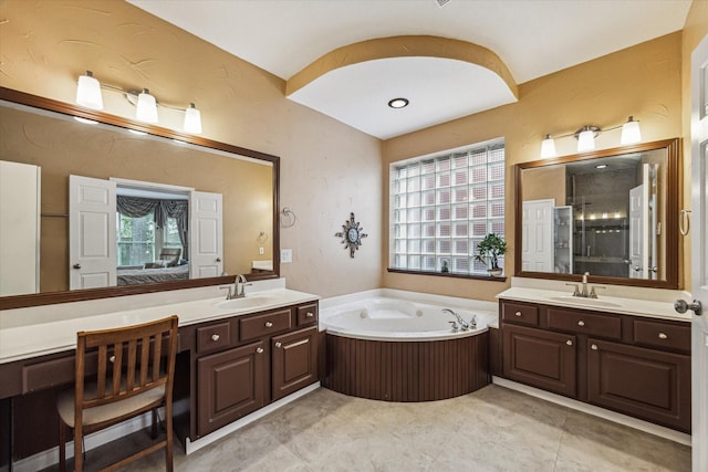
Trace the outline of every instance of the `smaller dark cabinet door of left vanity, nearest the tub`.
[[317, 380], [317, 328], [313, 326], [272, 339], [273, 401]]

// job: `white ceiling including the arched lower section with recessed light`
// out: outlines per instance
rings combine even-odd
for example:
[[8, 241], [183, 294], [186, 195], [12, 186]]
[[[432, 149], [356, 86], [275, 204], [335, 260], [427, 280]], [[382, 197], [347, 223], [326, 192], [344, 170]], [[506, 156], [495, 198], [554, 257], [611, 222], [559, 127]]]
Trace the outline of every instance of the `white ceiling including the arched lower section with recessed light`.
[[[522, 84], [684, 27], [691, 0], [128, 0], [283, 80], [355, 42], [435, 35], [493, 51]], [[391, 109], [391, 98], [410, 105]], [[334, 70], [289, 98], [387, 139], [516, 101], [496, 74], [436, 57]]]

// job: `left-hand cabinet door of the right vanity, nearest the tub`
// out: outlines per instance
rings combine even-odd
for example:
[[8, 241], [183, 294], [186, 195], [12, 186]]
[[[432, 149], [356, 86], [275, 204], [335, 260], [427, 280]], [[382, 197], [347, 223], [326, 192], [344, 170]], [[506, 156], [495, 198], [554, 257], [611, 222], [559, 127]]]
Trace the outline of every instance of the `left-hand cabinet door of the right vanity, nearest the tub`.
[[575, 336], [503, 326], [503, 375], [544, 390], [575, 397]]

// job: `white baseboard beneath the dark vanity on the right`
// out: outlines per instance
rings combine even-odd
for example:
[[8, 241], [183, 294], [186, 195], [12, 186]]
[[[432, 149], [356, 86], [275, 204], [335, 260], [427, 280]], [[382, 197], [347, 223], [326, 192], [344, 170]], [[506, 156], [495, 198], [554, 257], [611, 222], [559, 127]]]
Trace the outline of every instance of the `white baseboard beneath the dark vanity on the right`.
[[608, 421], [628, 426], [629, 428], [638, 429], [639, 431], [648, 432], [649, 434], [658, 436], [660, 438], [665, 438], [680, 444], [691, 445], [690, 434], [686, 434], [670, 428], [665, 428], [658, 424], [650, 423], [648, 421], [610, 411], [604, 408], [595, 407], [594, 405], [584, 403], [582, 401], [573, 400], [572, 398], [551, 394], [550, 391], [529, 387], [528, 385], [519, 384], [501, 377], [492, 377], [492, 384], [499, 385], [501, 387], [507, 387], [511, 390], [521, 391], [522, 394], [541, 398], [542, 400], [551, 401], [553, 403], [562, 405], [563, 407], [572, 408], [574, 410], [600, 417]]

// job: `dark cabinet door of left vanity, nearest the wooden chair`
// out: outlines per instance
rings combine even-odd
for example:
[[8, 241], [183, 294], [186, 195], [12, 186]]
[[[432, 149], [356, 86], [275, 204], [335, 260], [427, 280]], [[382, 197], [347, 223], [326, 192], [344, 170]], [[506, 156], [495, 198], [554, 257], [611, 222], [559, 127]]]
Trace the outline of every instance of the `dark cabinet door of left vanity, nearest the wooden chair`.
[[263, 342], [197, 360], [197, 432], [201, 437], [264, 405]]

